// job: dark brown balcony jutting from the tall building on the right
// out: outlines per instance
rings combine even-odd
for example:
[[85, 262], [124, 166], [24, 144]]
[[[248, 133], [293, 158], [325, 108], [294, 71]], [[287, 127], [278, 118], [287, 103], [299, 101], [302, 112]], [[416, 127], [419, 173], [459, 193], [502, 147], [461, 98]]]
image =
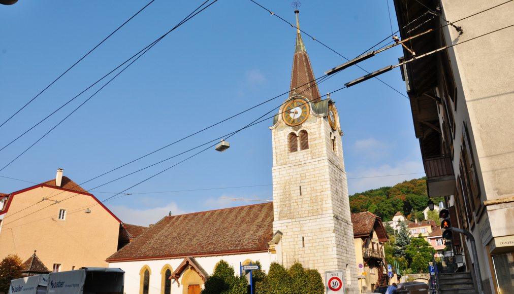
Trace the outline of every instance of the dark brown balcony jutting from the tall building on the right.
[[451, 195], [455, 191], [455, 174], [449, 155], [425, 158], [429, 197]]

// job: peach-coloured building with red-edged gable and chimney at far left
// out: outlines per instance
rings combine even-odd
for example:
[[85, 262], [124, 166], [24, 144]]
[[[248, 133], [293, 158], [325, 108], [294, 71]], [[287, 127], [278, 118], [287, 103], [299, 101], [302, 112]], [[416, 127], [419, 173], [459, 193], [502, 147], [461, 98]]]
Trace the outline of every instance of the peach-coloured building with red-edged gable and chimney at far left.
[[37, 250], [53, 271], [107, 266], [121, 222], [62, 174], [0, 197], [0, 260], [13, 253], [26, 260]]

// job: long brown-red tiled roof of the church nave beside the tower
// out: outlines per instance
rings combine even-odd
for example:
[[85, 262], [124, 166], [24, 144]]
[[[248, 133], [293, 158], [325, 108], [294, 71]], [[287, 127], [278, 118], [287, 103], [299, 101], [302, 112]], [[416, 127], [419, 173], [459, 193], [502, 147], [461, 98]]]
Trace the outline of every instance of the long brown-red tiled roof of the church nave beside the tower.
[[266, 251], [273, 203], [164, 217], [107, 262]]

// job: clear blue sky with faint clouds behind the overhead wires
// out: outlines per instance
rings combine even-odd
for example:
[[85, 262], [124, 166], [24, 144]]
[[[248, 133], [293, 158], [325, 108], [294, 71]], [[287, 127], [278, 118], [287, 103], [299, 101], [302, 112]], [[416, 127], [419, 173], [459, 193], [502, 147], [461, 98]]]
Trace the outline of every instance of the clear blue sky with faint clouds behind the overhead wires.
[[[259, 0], [290, 23], [289, 1]], [[0, 117], [5, 121], [89, 49], [148, 1], [20, 1], [0, 7]], [[104, 44], [0, 128], [2, 147], [99, 77], [168, 31], [201, 2], [156, 0]], [[397, 30], [394, 8], [393, 30]], [[391, 33], [386, 0], [303, 1], [300, 27], [347, 58]], [[170, 33], [83, 107], [0, 175], [35, 183], [57, 168], [77, 183], [286, 92], [296, 29], [248, 0], [219, 0]], [[316, 77], [345, 62], [303, 36]], [[361, 66], [374, 71], [396, 64], [399, 47]], [[319, 85], [322, 94], [364, 75], [351, 67]], [[380, 76], [405, 94], [398, 69]], [[99, 88], [75, 101], [0, 151], [0, 168], [63, 119]], [[343, 151], [350, 193], [423, 176], [419, 145], [406, 97], [373, 79], [331, 95], [344, 131]], [[239, 129], [286, 99], [282, 96], [148, 158], [83, 185], [91, 189]], [[172, 211], [246, 205], [220, 197], [268, 199], [271, 188], [271, 120], [229, 140], [223, 153], [207, 150], [106, 202], [123, 221], [148, 225]], [[1, 147], [0, 147], [1, 148]], [[187, 158], [177, 156], [94, 189], [100, 200]], [[417, 173], [395, 177], [378, 175]], [[31, 184], [0, 178], [0, 192]], [[227, 188], [255, 186], [246, 188]], [[216, 188], [216, 189], [211, 189]], [[208, 190], [197, 190], [208, 189]], [[177, 190], [196, 190], [164, 192]], [[107, 192], [107, 193], [106, 193]], [[152, 192], [152, 193], [149, 193]], [[153, 193], [159, 192], [159, 193]], [[138, 193], [138, 194], [136, 194]]]

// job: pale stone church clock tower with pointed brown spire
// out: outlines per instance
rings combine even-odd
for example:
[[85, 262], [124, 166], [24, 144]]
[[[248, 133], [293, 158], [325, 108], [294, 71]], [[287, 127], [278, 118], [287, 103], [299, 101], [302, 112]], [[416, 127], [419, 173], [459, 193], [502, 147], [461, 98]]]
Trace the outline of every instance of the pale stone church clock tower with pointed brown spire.
[[[295, 13], [299, 28], [299, 11]], [[299, 261], [319, 270], [323, 279], [326, 270], [342, 270], [347, 293], [358, 293], [343, 132], [334, 102], [329, 96], [321, 99], [300, 29], [289, 98], [270, 129], [272, 242], [279, 262], [289, 267]]]

